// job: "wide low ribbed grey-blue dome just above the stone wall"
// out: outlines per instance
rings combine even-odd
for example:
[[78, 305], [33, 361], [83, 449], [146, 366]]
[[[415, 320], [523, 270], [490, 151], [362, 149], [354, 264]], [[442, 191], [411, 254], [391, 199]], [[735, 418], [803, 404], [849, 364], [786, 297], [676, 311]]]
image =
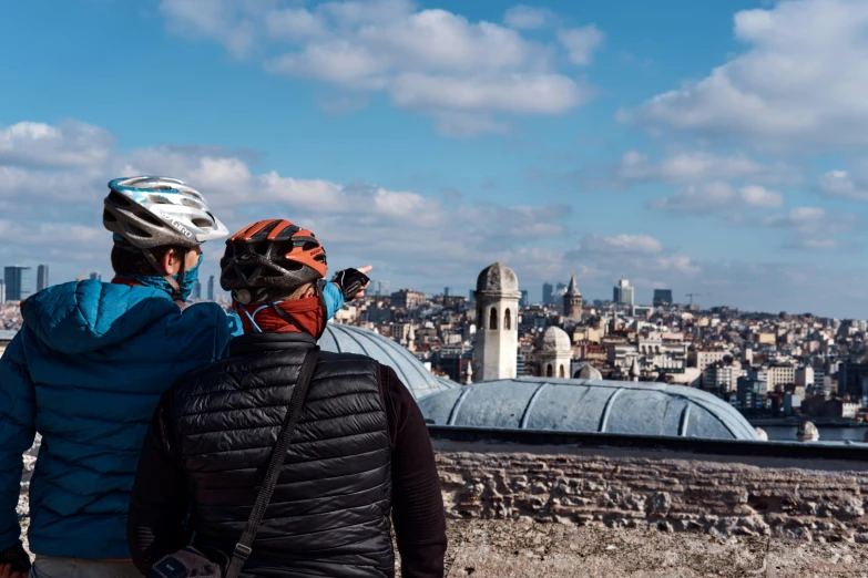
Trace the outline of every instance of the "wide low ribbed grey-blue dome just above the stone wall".
[[423, 399], [437, 425], [758, 440], [732, 405], [665, 383], [520, 378], [483, 381]]

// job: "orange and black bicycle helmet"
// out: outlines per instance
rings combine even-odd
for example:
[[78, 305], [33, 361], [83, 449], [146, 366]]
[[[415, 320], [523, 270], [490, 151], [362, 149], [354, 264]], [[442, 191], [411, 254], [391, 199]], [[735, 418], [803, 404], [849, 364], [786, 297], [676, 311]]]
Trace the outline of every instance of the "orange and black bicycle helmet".
[[248, 225], [226, 241], [219, 285], [243, 303], [266, 302], [326, 276], [326, 250], [286, 219]]

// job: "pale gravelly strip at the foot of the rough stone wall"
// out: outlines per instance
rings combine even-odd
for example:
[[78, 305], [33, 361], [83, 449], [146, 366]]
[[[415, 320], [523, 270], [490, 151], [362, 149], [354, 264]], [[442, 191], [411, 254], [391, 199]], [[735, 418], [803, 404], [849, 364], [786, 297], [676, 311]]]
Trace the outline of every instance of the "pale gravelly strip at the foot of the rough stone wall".
[[868, 578], [868, 545], [450, 520], [449, 578]]

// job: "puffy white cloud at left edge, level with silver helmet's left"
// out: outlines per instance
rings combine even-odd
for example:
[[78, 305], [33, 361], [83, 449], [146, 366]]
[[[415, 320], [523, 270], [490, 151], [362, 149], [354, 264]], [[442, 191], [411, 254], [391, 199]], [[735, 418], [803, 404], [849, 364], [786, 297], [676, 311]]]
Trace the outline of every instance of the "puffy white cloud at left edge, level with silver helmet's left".
[[0, 165], [88, 166], [105, 161], [112, 146], [114, 138], [106, 131], [74, 121], [0, 127]]

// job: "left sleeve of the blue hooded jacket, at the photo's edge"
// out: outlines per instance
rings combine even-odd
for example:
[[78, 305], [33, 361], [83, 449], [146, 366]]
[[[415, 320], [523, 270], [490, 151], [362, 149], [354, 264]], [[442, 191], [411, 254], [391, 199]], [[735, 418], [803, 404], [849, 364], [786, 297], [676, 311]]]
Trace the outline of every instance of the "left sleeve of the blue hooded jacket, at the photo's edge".
[[35, 409], [33, 382], [27, 369], [22, 329], [0, 358], [0, 551], [21, 535], [18, 496], [21, 492], [21, 455], [33, 445]]

